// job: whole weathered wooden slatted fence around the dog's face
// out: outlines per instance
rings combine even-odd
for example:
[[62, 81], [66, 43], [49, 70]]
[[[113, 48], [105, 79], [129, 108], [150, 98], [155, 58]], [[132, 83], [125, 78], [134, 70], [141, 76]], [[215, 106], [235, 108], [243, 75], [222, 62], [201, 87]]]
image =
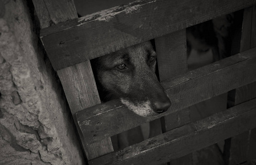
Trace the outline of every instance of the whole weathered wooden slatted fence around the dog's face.
[[[73, 1], [33, 3], [41, 41], [61, 79], [89, 164], [161, 164], [256, 127], [255, 1], [143, 0], [81, 18]], [[240, 9], [244, 19], [236, 55], [187, 72], [186, 27]], [[172, 106], [145, 118], [118, 100], [100, 103], [89, 60], [152, 38], [161, 84]], [[189, 106], [234, 89], [233, 107], [190, 122]], [[181, 123], [172, 122], [177, 115]], [[112, 135], [161, 117], [164, 134], [113, 152]], [[231, 150], [226, 147], [225, 154]], [[255, 158], [248, 155], [241, 161]]]

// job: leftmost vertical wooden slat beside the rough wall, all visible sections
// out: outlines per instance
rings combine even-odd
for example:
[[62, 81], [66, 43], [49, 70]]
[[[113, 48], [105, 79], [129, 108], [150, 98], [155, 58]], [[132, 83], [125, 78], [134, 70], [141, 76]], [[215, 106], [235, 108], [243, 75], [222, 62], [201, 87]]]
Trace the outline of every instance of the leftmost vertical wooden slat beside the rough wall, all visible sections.
[[[77, 18], [73, 0], [33, 0], [33, 3], [41, 28]], [[73, 117], [76, 112], [100, 103], [89, 61], [58, 70], [57, 73]], [[88, 160], [113, 151], [110, 138], [86, 145], [83, 136], [80, 137]]]

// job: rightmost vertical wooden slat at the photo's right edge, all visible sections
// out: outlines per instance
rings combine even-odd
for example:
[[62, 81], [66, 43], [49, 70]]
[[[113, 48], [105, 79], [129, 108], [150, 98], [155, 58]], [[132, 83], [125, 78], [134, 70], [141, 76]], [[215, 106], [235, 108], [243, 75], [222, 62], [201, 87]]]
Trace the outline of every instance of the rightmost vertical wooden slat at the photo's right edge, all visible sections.
[[[255, 30], [256, 30], [256, 10], [255, 6], [244, 9], [243, 14], [243, 24], [242, 24], [242, 34], [241, 34], [241, 45], [240, 52], [246, 51], [250, 48], [256, 46], [255, 42]], [[256, 97], [256, 82], [239, 87], [235, 90], [235, 100], [234, 106], [246, 102], [248, 100], [252, 100], [252, 98]], [[239, 164], [245, 161], [249, 161], [250, 159], [255, 159], [256, 155], [252, 155], [252, 153], [256, 153], [255, 140], [253, 137], [256, 129], [249, 130], [243, 134], [237, 135], [231, 138], [231, 147], [230, 147], [230, 158], [229, 164]]]

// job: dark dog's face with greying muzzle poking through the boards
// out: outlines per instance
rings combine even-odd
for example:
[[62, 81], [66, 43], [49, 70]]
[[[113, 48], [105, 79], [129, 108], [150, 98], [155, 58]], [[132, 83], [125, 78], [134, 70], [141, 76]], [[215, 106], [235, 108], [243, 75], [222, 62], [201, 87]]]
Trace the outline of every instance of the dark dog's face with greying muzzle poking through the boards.
[[165, 112], [171, 102], [155, 75], [156, 53], [140, 43], [91, 61], [102, 101], [120, 98], [140, 116]]

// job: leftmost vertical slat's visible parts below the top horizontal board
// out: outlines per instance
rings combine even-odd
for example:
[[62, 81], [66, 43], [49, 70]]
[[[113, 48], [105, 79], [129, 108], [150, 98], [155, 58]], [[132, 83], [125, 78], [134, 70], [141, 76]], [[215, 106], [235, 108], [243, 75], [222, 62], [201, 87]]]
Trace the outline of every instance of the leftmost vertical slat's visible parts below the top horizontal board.
[[[73, 116], [76, 112], [79, 112], [82, 109], [101, 103], [90, 61], [58, 70], [57, 73], [59, 79], [61, 79]], [[86, 142], [83, 139], [83, 134], [80, 132], [79, 134], [88, 160], [113, 151], [110, 138], [86, 145]]]

